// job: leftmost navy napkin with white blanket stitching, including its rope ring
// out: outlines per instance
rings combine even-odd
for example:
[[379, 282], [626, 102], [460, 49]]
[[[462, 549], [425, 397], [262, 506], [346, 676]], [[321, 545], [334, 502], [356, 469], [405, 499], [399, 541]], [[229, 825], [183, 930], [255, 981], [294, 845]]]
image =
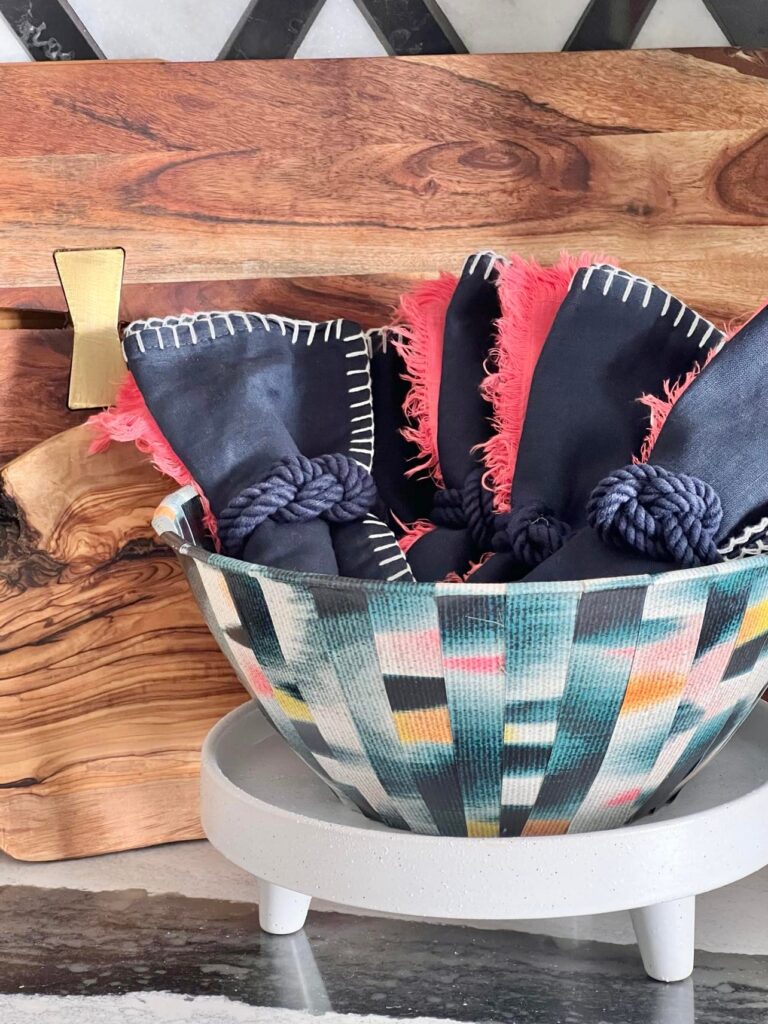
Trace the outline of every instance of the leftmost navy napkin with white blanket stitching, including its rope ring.
[[225, 554], [407, 580], [371, 476], [374, 414], [359, 326], [262, 313], [138, 321], [129, 370], [210, 503]]

